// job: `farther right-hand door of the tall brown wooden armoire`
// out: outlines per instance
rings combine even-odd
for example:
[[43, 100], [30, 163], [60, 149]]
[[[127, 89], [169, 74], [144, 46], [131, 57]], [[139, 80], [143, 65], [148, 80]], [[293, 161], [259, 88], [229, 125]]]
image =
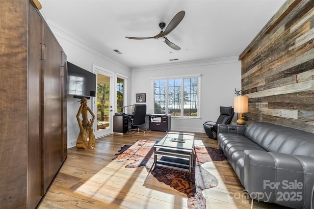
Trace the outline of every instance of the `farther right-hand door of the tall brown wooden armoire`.
[[43, 166], [44, 191], [62, 164], [62, 96], [61, 65], [62, 49], [45, 23], [43, 72]]

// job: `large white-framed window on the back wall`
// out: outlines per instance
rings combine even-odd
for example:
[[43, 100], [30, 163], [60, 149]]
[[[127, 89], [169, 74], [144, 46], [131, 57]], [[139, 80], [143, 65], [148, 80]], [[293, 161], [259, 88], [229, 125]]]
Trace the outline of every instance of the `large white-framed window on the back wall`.
[[200, 117], [201, 75], [154, 78], [154, 113]]

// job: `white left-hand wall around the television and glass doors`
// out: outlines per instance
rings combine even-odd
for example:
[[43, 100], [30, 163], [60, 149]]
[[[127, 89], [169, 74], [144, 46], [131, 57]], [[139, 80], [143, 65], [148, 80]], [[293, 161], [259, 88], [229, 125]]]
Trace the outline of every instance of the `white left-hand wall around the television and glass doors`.
[[[63, 30], [49, 21], [47, 22], [63, 51], [66, 53], [67, 61], [90, 72], [92, 72], [92, 65], [96, 64], [107, 70], [129, 77], [127, 88], [131, 89], [131, 68], [129, 66], [107, 56], [97, 48], [94, 48], [75, 35], [70, 34], [68, 31]], [[131, 98], [131, 91], [128, 91], [127, 98]], [[78, 101], [79, 99], [67, 95], [68, 148], [76, 146], [76, 140], [79, 134], [78, 121], [76, 118], [80, 106]], [[91, 100], [88, 101], [88, 106], [92, 108]]]

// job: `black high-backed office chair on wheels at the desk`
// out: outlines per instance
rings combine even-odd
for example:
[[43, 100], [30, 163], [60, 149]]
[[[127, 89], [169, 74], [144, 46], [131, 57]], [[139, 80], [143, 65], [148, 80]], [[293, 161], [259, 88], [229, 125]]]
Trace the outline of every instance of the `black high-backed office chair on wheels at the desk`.
[[129, 131], [143, 131], [146, 133], [147, 129], [142, 129], [140, 126], [145, 124], [146, 119], [146, 104], [135, 104], [134, 105], [134, 113], [132, 117], [129, 117], [131, 120], [132, 126], [136, 126], [136, 129], [130, 129]]

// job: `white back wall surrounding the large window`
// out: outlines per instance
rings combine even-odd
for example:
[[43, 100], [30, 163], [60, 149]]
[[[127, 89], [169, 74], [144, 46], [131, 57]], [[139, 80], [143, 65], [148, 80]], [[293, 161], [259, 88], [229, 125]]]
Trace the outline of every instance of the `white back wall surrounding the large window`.
[[[201, 118], [171, 118], [172, 131], [205, 132], [203, 123], [216, 121], [220, 106], [234, 106], [235, 88], [241, 89], [241, 62], [228, 57], [204, 62], [189, 62], [132, 69], [131, 99], [146, 93], [147, 113], [153, 113], [151, 78], [201, 74]], [[236, 114], [235, 114], [236, 117]]]

